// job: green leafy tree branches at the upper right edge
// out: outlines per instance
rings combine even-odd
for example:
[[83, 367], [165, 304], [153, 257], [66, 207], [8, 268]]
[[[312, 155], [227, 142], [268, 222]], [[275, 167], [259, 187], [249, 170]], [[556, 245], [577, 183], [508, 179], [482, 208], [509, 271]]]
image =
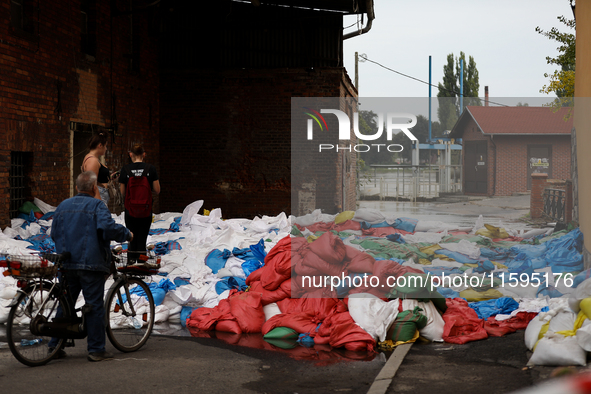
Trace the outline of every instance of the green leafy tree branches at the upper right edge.
[[[572, 4], [572, 2], [571, 2]], [[567, 19], [559, 16], [557, 18], [570, 30], [575, 30], [576, 22], [574, 19]], [[536, 32], [544, 37], [558, 42], [558, 56], [546, 57], [546, 63], [560, 66], [560, 71], [555, 70], [553, 74], [545, 73], [544, 77], [550, 78], [550, 82], [540, 89], [541, 93], [555, 93], [557, 99], [554, 102], [555, 107], [570, 105], [571, 98], [575, 95], [575, 34], [571, 32], [561, 32], [553, 27], [550, 30], [542, 30], [536, 27]]]

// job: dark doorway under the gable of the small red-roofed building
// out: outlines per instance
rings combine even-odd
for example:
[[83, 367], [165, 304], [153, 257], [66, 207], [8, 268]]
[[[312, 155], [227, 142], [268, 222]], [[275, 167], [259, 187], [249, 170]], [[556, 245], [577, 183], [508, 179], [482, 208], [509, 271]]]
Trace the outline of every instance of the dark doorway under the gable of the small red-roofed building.
[[486, 141], [466, 141], [464, 147], [465, 193], [487, 194]]

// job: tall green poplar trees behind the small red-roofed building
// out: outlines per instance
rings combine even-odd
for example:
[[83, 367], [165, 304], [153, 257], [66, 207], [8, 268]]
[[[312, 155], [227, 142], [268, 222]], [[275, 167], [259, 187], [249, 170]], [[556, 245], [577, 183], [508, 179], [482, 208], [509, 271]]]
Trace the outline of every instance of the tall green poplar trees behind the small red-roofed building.
[[[464, 63], [463, 75], [460, 61]], [[455, 66], [455, 70], [454, 70]], [[463, 108], [460, 108], [460, 78], [463, 81]], [[437, 99], [439, 107], [437, 117], [444, 130], [451, 130], [457, 122], [460, 114], [468, 105], [482, 105], [478, 98], [480, 82], [476, 61], [472, 56], [466, 62], [466, 55], [460, 52], [460, 56], [454, 59], [453, 53], [447, 55], [447, 63], [443, 66], [443, 83], [437, 85]]]

